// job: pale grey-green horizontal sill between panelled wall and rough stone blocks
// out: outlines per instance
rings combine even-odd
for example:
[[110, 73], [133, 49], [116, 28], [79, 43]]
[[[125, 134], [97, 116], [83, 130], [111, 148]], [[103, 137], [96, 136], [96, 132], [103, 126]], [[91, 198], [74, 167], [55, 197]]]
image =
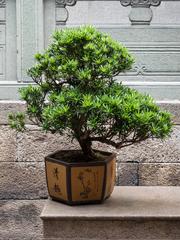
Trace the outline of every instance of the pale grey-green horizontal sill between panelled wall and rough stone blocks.
[[[169, 73], [171, 74], [171, 73]], [[155, 79], [154, 79], [155, 78]], [[159, 79], [160, 78], [160, 79]], [[126, 80], [124, 80], [126, 79]], [[159, 80], [158, 80], [159, 79]], [[140, 92], [148, 93], [154, 97], [157, 101], [177, 101], [180, 100], [180, 75], [169, 76], [164, 74], [158, 76], [155, 72], [154, 75], [133, 75], [133, 76], [119, 76], [117, 77], [119, 82], [123, 82], [124, 85], [135, 88]], [[153, 81], [152, 81], [153, 80]], [[157, 81], [155, 81], [157, 80]], [[34, 85], [34, 83], [31, 83]], [[18, 101], [19, 88], [27, 87], [29, 83], [16, 83], [15, 81], [2, 81], [0, 82], [0, 96], [1, 100]]]

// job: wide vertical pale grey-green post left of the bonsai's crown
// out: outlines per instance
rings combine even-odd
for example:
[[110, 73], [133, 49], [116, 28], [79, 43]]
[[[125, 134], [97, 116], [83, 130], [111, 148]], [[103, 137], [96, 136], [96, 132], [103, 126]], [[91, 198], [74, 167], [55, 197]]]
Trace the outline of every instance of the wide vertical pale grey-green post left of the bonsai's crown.
[[17, 80], [30, 82], [26, 70], [33, 64], [33, 54], [44, 48], [43, 0], [16, 0]]

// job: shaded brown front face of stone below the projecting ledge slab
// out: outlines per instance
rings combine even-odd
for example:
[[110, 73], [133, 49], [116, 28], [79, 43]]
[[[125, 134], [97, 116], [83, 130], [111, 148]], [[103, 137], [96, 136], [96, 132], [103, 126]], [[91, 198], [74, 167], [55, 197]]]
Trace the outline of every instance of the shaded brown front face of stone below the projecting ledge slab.
[[180, 239], [180, 221], [46, 221], [44, 229], [48, 240]]

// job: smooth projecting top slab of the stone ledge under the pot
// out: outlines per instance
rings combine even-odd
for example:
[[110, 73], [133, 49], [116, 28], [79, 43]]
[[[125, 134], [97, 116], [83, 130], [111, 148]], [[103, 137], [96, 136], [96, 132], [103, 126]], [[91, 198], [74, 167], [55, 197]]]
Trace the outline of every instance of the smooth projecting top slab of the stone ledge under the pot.
[[69, 207], [48, 200], [43, 220], [179, 219], [180, 187], [115, 187], [102, 205]]

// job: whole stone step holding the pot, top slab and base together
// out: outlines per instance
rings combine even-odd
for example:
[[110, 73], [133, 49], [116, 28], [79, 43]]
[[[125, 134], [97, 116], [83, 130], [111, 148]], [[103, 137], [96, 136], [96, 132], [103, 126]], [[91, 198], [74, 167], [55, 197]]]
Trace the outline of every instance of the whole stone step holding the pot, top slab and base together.
[[101, 205], [47, 200], [44, 239], [180, 239], [180, 187], [115, 187]]

